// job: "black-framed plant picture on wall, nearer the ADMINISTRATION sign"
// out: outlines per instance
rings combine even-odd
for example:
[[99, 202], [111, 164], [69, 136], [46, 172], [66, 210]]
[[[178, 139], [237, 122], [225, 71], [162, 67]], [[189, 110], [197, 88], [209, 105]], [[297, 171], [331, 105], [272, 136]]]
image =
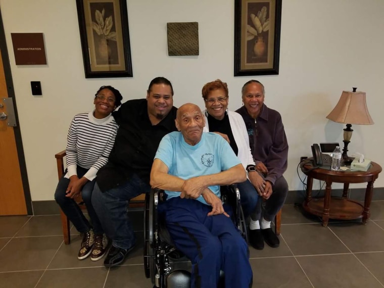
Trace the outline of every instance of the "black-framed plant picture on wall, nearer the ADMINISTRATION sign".
[[133, 77], [126, 0], [76, 0], [85, 78]]

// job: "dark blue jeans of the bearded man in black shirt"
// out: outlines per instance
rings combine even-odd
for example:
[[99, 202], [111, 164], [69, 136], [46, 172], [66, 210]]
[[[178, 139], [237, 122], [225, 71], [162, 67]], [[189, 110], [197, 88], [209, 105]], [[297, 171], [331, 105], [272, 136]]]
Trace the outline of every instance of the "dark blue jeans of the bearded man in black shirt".
[[94, 185], [92, 204], [114, 247], [129, 249], [135, 245], [135, 234], [127, 215], [128, 203], [132, 198], [150, 191], [149, 183], [136, 174], [132, 174], [123, 185], [105, 192], [101, 191], [97, 183]]

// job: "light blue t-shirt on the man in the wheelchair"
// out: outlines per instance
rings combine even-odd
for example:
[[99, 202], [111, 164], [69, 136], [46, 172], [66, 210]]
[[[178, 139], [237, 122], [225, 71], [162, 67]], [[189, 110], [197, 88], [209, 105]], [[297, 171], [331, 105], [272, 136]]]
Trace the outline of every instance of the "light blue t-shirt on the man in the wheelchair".
[[[181, 132], [171, 132], [161, 140], [155, 159], [160, 159], [167, 165], [168, 174], [184, 180], [219, 173], [241, 164], [228, 142], [212, 132], [204, 132], [200, 142], [195, 146], [188, 145]], [[220, 197], [220, 186], [208, 188]], [[168, 199], [180, 196], [180, 191], [165, 190], [165, 193]], [[207, 204], [203, 196], [197, 200]]]

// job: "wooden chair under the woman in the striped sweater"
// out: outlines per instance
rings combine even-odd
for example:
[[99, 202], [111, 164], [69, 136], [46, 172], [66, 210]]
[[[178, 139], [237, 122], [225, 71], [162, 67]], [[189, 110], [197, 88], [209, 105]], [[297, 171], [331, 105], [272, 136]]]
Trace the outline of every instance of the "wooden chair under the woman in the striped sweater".
[[[56, 164], [57, 164], [57, 174], [59, 176], [59, 180], [64, 175], [64, 157], [65, 156], [66, 156], [65, 150], [55, 154]], [[144, 207], [145, 198], [146, 198], [145, 194], [141, 194], [135, 198], [132, 198], [131, 201], [129, 201], [129, 207]], [[86, 209], [81, 196], [78, 196], [74, 200], [82, 210]], [[64, 243], [69, 244], [71, 242], [69, 219], [61, 209], [60, 209], [60, 215], [61, 215], [61, 225], [63, 227]]]

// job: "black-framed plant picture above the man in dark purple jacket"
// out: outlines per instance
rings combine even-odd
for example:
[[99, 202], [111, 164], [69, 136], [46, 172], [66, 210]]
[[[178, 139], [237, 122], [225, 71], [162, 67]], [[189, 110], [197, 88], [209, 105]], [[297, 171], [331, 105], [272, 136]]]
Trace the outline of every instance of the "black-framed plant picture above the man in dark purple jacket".
[[282, 0], [235, 0], [234, 76], [279, 73]]

